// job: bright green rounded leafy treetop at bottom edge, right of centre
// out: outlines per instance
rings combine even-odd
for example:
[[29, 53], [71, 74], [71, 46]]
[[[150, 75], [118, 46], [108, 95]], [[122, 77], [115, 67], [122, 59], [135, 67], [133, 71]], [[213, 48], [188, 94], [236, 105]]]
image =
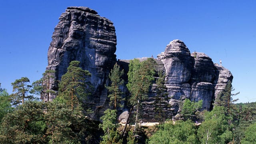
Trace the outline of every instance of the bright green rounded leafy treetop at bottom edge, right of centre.
[[196, 129], [191, 121], [172, 121], [159, 126], [148, 144], [198, 144]]

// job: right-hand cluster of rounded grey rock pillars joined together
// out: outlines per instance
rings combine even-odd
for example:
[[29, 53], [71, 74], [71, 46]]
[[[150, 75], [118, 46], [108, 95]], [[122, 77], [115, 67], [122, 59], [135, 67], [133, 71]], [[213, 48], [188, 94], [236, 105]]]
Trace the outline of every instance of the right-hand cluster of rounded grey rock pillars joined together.
[[158, 55], [166, 70], [166, 87], [173, 114], [179, 111], [179, 103], [185, 98], [203, 100], [202, 110], [210, 110], [218, 93], [233, 76], [229, 70], [214, 64], [204, 53], [190, 51], [181, 40], [173, 40]]

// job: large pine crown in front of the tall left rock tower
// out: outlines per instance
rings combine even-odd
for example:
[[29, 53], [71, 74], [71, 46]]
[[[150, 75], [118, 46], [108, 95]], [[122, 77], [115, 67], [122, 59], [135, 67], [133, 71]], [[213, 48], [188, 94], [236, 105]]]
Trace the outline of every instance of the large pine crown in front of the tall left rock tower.
[[91, 88], [90, 83], [86, 81], [91, 74], [88, 70], [82, 70], [79, 64], [79, 61], [70, 62], [68, 71], [62, 75], [59, 83], [58, 96], [65, 100], [71, 109], [86, 99]]

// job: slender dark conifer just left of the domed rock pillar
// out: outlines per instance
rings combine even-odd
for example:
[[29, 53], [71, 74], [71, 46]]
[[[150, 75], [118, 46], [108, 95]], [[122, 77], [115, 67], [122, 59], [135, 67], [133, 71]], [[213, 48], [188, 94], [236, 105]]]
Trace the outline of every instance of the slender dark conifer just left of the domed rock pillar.
[[158, 122], [164, 122], [168, 115], [166, 113], [166, 109], [170, 107], [168, 102], [168, 93], [165, 84], [165, 76], [162, 72], [158, 72], [159, 78], [156, 80], [156, 97], [154, 101], [154, 112], [156, 115], [154, 118], [158, 120]]

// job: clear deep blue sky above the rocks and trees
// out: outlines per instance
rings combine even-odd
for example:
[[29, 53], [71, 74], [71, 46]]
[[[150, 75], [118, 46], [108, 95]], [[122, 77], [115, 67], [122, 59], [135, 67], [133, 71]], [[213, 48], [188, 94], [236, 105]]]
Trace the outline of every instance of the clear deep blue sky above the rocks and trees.
[[255, 102], [255, 0], [1, 0], [0, 83], [12, 92], [21, 77], [41, 78], [58, 18], [87, 6], [114, 22], [118, 59], [157, 56], [180, 39], [234, 75], [235, 98]]

